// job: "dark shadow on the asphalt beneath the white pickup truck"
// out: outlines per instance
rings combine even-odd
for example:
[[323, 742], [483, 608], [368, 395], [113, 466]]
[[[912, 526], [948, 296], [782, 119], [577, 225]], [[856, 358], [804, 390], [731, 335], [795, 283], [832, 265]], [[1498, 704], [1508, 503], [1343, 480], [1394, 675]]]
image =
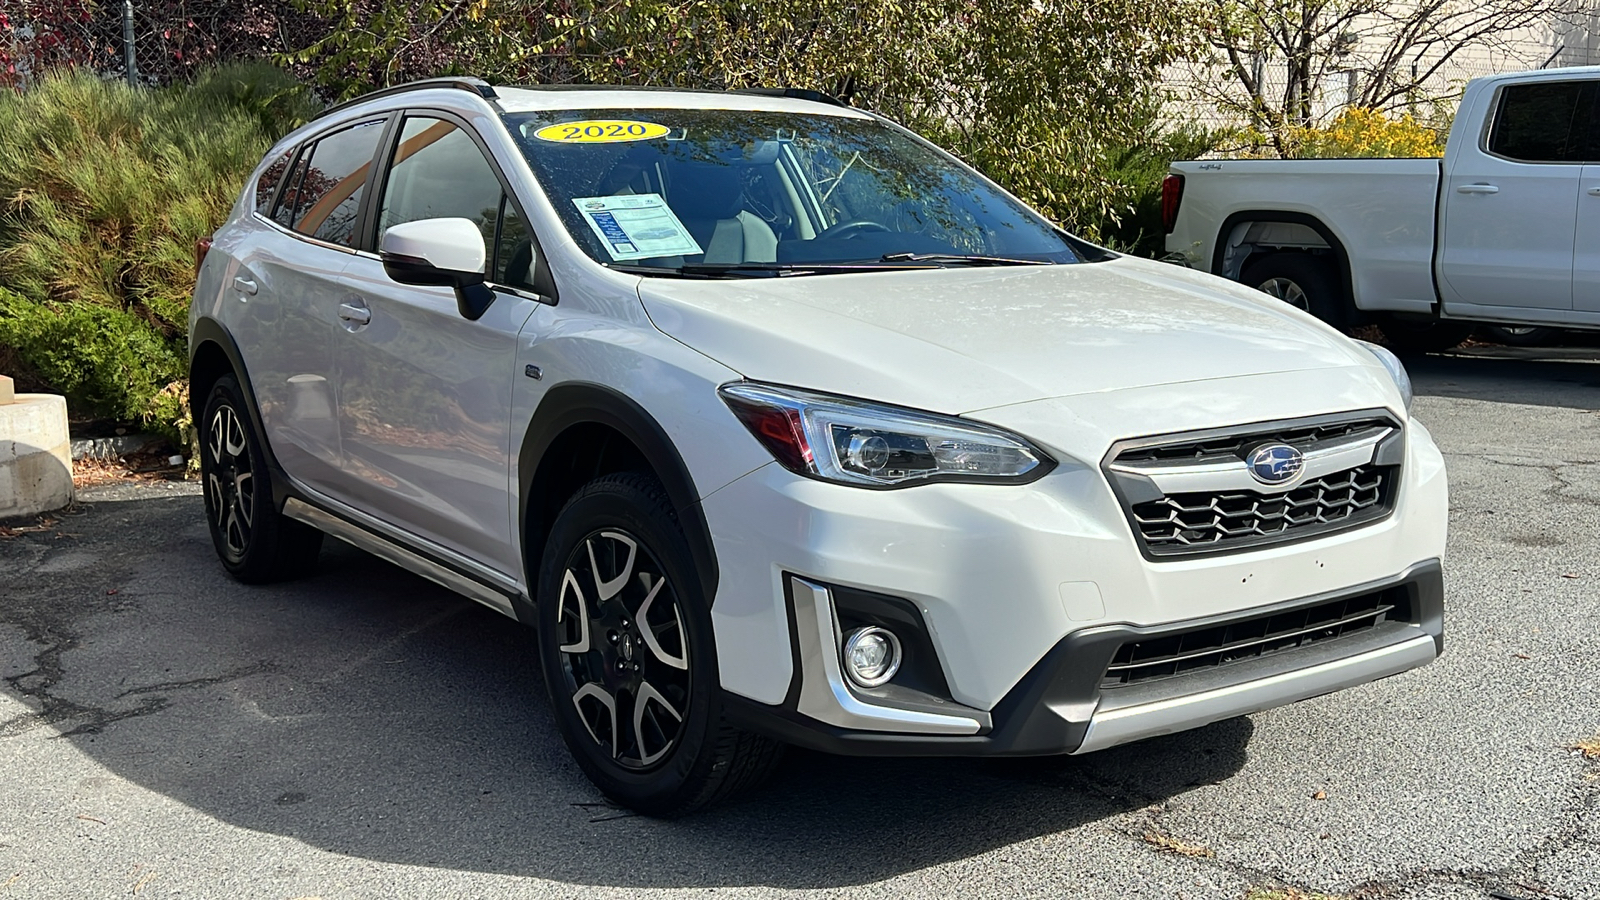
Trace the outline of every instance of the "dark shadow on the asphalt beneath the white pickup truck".
[[1405, 357], [1418, 396], [1600, 407], [1600, 348], [1464, 348]]

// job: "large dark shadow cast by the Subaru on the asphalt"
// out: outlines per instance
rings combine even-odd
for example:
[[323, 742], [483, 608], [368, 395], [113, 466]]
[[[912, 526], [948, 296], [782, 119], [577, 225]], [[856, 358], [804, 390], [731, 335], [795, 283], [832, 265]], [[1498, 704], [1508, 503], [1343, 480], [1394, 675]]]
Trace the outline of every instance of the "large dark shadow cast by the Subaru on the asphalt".
[[[310, 578], [235, 585], [202, 522], [198, 496], [131, 500], [91, 508], [70, 540], [0, 541], [0, 636], [21, 636], [0, 650], [13, 673], [35, 663], [0, 690], [46, 713], [0, 722], [0, 740], [48, 727], [198, 814], [358, 858], [584, 886], [856, 886], [1227, 778], [1253, 732], [1235, 719], [1056, 759], [794, 751], [763, 788], [658, 822], [606, 806], [570, 761], [522, 626], [331, 540]], [[72, 812], [91, 815], [82, 798]]]

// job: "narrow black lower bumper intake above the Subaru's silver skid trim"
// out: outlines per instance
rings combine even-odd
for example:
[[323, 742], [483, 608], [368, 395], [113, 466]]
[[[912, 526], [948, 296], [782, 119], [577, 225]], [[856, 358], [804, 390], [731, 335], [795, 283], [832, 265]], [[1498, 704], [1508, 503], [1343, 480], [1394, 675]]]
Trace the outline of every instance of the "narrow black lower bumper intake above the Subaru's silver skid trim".
[[1141, 684], [1254, 660], [1334, 641], [1382, 621], [1413, 621], [1411, 597], [1405, 586], [1130, 641], [1117, 649], [1101, 687]]

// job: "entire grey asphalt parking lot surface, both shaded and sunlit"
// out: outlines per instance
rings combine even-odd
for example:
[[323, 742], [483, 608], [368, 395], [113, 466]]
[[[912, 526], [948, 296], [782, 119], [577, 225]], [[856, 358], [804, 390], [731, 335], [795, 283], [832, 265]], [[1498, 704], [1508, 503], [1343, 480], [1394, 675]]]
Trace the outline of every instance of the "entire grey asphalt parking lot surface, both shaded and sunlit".
[[85, 492], [0, 540], [0, 898], [1597, 898], [1600, 352], [1410, 364], [1437, 663], [1085, 757], [795, 751], [682, 822], [584, 780], [515, 623], [333, 540], [240, 586], [195, 485]]

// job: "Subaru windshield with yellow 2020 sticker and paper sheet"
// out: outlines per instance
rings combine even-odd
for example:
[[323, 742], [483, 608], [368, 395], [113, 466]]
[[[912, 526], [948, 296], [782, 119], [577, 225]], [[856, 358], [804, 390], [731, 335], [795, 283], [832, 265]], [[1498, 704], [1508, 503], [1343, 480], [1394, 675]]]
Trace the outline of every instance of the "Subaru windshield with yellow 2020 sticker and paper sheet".
[[566, 229], [643, 274], [1075, 263], [1069, 239], [874, 119], [722, 109], [506, 117]]

